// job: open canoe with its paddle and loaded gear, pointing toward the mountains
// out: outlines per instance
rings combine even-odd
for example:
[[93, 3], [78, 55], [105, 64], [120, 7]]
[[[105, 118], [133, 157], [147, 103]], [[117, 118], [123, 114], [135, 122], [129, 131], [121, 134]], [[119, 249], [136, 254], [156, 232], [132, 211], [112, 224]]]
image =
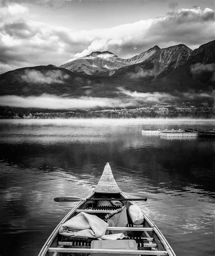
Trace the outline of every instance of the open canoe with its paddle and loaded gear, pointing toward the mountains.
[[[57, 202], [78, 200], [82, 201], [56, 226], [39, 252], [39, 256], [103, 256], [106, 254], [116, 256], [175, 256], [174, 251], [161, 231], [142, 210], [138, 212], [138, 222], [136, 219], [134, 221], [130, 209], [138, 209], [138, 207], [133, 201], [146, 201], [146, 199], [128, 198], [117, 186], [109, 163], [106, 164], [97, 187], [85, 199], [74, 197], [55, 198]], [[136, 218], [137, 214], [134, 216]], [[81, 225], [81, 223], [74, 221], [80, 217], [86, 217], [85, 220], [89, 220], [89, 226], [93, 226], [93, 231], [89, 231], [89, 229], [87, 231], [82, 230], [83, 232], [91, 232], [90, 236], [86, 236], [88, 238], [77, 236], [79, 233], [74, 233], [77, 231], [77, 228], [76, 231], [70, 231], [69, 229], [68, 223], [73, 222], [76, 226], [78, 224]], [[91, 222], [92, 219], [93, 222]], [[96, 220], [98, 223], [96, 223]], [[65, 226], [67, 227], [65, 228]], [[95, 226], [99, 227], [99, 231], [105, 226], [105, 232], [102, 236], [100, 236], [101, 234], [95, 235], [97, 234]], [[78, 228], [78, 231], [80, 230], [81, 228]], [[120, 239], [118, 239], [119, 235]], [[109, 239], [114, 240], [110, 241]]]

